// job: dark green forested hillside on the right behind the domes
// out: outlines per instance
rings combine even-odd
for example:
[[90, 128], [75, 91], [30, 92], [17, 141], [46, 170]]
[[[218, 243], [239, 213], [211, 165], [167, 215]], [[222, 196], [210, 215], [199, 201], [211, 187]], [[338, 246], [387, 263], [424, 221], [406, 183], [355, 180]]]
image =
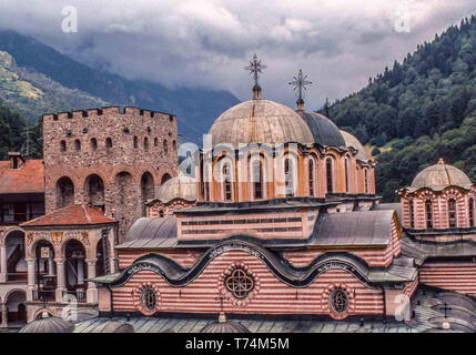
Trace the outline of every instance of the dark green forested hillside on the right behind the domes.
[[391, 148], [373, 150], [383, 201], [439, 158], [476, 181], [476, 16], [322, 111], [363, 144]]

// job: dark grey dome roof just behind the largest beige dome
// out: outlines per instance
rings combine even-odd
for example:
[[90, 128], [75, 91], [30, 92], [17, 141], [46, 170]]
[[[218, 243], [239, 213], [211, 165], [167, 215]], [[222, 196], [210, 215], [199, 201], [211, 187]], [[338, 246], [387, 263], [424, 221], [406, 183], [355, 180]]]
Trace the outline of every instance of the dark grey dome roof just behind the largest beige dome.
[[338, 128], [325, 115], [317, 112], [297, 111], [307, 123], [314, 136], [314, 142], [321, 145], [345, 145], [344, 136]]

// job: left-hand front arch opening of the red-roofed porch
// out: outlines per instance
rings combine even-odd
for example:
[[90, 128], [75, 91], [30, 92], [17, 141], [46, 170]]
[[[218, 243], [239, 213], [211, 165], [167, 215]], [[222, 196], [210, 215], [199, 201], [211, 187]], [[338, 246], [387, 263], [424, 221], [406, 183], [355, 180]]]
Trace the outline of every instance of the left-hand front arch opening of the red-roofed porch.
[[54, 262], [53, 245], [41, 240], [36, 245], [36, 280], [37, 290], [33, 292], [34, 301], [52, 302], [57, 288], [57, 263]]

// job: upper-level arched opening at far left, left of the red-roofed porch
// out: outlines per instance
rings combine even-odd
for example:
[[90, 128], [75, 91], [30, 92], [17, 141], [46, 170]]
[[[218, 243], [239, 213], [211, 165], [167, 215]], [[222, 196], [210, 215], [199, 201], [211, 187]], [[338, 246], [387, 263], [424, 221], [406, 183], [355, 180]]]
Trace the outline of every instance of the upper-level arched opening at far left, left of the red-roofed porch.
[[12, 231], [4, 240], [7, 247], [7, 281], [27, 281], [24, 261], [24, 232]]

